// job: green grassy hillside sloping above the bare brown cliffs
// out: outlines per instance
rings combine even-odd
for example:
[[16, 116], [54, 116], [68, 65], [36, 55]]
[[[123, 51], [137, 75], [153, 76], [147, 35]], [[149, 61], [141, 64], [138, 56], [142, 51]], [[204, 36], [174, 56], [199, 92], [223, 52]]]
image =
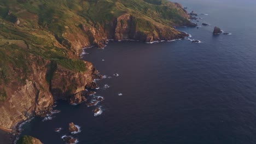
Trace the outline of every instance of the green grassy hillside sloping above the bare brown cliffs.
[[189, 23], [184, 10], [166, 0], [0, 1], [0, 101], [7, 97], [5, 87], [29, 79], [31, 62], [85, 71], [80, 48], [104, 43], [123, 14], [133, 16], [136, 32], [142, 34], [155, 35], [159, 27], [178, 34], [172, 27]]

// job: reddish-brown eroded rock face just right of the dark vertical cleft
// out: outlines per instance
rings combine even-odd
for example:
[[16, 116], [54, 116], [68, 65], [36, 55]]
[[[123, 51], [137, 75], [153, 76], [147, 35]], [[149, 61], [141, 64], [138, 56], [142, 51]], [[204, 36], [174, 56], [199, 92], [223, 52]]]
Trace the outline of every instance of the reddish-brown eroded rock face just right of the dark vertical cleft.
[[[82, 100], [79, 92], [84, 91], [85, 87], [95, 88], [96, 83], [93, 82], [97, 77], [97, 70], [90, 62], [84, 62], [86, 71], [74, 72], [57, 66], [53, 79], [51, 80], [51, 93], [54, 100], [63, 99], [71, 100], [73, 94], [77, 94], [78, 101]], [[72, 100], [74, 100], [72, 98]], [[73, 101], [74, 102], [74, 101]]]

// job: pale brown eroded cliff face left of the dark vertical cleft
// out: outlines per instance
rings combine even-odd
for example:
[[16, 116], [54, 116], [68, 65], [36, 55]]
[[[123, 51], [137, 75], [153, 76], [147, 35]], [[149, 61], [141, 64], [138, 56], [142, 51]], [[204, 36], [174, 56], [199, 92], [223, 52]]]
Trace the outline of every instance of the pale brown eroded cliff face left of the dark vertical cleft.
[[17, 123], [34, 115], [43, 116], [51, 110], [53, 96], [45, 80], [46, 64], [49, 61], [40, 57], [32, 58], [42, 63], [42, 67], [38, 68], [32, 62], [32, 73], [24, 84], [13, 81], [5, 87], [8, 97], [0, 101], [0, 127], [14, 129]]

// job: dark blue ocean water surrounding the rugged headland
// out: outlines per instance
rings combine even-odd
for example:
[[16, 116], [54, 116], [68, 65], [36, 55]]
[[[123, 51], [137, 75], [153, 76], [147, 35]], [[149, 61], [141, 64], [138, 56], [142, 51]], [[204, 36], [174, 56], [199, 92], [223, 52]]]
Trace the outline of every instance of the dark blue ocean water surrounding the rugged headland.
[[[74, 122], [82, 129], [73, 135], [79, 143], [256, 143], [256, 1], [176, 2], [208, 14], [197, 23], [211, 26], [179, 28], [202, 43], [123, 41], [86, 49], [83, 59], [112, 76], [97, 81], [104, 101], [94, 107], [60, 101], [60, 113], [45, 122], [34, 118], [22, 135], [63, 143]], [[213, 36], [214, 26], [232, 35]], [[99, 106], [103, 113], [95, 117]]]

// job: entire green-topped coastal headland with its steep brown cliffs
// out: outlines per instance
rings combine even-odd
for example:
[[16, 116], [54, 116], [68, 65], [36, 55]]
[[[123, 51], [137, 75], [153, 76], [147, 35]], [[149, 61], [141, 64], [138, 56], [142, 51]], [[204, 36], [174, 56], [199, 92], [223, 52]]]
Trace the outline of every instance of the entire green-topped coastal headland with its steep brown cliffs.
[[44, 116], [54, 100], [80, 101], [97, 70], [79, 60], [82, 47], [107, 39], [143, 42], [184, 38], [195, 26], [166, 0], [3, 0], [0, 3], [0, 128]]

